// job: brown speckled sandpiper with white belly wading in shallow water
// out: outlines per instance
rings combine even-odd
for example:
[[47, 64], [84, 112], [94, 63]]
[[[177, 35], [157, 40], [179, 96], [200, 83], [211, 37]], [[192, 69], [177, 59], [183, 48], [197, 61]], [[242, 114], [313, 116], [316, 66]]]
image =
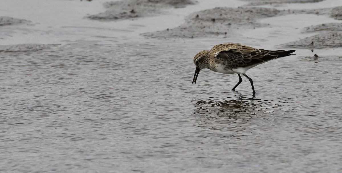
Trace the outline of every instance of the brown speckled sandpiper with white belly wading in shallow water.
[[295, 50], [264, 50], [237, 44], [225, 43], [219, 44], [210, 50], [202, 50], [194, 57], [196, 71], [193, 84], [196, 84], [199, 71], [203, 68], [209, 68], [214, 72], [224, 74], [238, 74], [239, 82], [232, 90], [242, 82], [240, 75], [246, 76], [251, 82], [253, 96], [255, 95], [253, 81], [246, 75], [246, 71], [252, 67], [271, 61], [276, 58], [292, 55]]

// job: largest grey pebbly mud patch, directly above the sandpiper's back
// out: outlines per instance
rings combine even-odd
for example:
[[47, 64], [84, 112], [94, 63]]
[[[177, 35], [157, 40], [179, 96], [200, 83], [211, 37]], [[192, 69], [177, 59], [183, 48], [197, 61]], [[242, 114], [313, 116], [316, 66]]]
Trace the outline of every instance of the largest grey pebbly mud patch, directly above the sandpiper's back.
[[236, 35], [239, 29], [267, 27], [267, 24], [261, 24], [257, 20], [282, 14], [288, 12], [262, 7], [216, 7], [190, 14], [179, 27], [141, 35], [150, 38]]

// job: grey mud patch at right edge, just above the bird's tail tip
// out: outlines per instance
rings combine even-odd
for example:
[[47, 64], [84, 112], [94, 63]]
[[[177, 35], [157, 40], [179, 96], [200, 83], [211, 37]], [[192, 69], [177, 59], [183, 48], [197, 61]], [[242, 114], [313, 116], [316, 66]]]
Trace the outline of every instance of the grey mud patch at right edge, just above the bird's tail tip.
[[342, 47], [342, 31], [317, 34], [311, 37], [306, 37], [298, 41], [278, 45], [279, 47], [293, 48], [336, 48]]

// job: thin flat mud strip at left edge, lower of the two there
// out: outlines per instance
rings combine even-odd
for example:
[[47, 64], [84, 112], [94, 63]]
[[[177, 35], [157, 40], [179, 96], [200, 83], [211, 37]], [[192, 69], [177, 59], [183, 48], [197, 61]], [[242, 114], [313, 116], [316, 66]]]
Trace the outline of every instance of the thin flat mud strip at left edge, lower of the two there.
[[29, 52], [48, 49], [60, 44], [18, 44], [18, 45], [0, 45], [0, 52]]

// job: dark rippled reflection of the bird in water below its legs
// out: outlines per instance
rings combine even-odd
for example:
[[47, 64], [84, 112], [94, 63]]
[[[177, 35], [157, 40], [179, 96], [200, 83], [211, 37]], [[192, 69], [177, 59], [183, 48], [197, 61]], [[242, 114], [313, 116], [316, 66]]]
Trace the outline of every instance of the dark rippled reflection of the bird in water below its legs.
[[253, 133], [253, 129], [261, 126], [272, 116], [273, 108], [278, 105], [271, 100], [261, 100], [252, 96], [212, 97], [206, 100], [193, 100], [194, 116], [203, 127], [218, 137], [241, 137]]

